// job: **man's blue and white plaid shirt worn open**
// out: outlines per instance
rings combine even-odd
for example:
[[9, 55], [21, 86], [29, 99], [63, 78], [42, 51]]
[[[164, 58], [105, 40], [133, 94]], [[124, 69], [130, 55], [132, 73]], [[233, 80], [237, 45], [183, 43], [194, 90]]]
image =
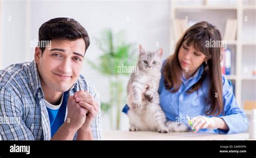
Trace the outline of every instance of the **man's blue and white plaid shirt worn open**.
[[[79, 90], [87, 90], [99, 102], [95, 87], [82, 75], [70, 88], [70, 96]], [[91, 128], [93, 138], [102, 140], [100, 111]], [[50, 120], [35, 61], [0, 70], [0, 134], [3, 140], [51, 140]]]

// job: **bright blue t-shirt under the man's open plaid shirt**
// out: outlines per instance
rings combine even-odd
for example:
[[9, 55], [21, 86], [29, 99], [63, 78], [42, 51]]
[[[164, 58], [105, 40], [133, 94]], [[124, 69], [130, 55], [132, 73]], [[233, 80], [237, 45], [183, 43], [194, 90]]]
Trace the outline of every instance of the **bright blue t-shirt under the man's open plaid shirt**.
[[66, 104], [68, 103], [68, 91], [64, 92], [62, 104], [58, 109], [50, 109], [46, 107], [51, 126], [51, 137], [58, 131], [59, 127], [62, 126], [66, 114]]

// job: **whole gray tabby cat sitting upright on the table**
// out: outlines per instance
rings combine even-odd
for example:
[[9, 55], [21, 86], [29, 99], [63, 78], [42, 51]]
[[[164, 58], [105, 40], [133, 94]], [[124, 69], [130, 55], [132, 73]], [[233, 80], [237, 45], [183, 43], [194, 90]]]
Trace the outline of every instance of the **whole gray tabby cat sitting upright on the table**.
[[130, 131], [157, 131], [169, 133], [170, 131], [187, 131], [186, 125], [178, 125], [167, 121], [161, 109], [158, 87], [161, 77], [161, 56], [163, 49], [157, 52], [145, 52], [139, 45], [139, 59], [137, 67], [139, 73], [132, 73], [127, 84], [127, 113]]

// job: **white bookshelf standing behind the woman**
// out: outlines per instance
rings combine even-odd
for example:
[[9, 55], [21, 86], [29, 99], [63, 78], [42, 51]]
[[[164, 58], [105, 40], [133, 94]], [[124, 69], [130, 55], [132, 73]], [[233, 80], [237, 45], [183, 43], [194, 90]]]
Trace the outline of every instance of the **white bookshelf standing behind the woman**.
[[[170, 52], [177, 39], [173, 34], [174, 19], [184, 19], [188, 24], [209, 21], [216, 25], [224, 37], [227, 19], [237, 19], [235, 40], [226, 41], [232, 51], [231, 74], [225, 75], [234, 87], [235, 98], [244, 108], [248, 100], [256, 102], [256, 0], [171, 0], [170, 2]], [[245, 109], [246, 114], [250, 110]]]

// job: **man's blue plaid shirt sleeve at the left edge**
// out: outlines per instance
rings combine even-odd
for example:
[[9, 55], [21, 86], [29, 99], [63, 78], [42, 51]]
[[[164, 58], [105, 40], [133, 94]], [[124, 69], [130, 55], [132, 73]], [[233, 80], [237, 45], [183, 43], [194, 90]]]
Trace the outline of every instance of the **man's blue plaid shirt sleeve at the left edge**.
[[35, 140], [22, 120], [22, 104], [0, 85], [0, 132], [2, 140]]

